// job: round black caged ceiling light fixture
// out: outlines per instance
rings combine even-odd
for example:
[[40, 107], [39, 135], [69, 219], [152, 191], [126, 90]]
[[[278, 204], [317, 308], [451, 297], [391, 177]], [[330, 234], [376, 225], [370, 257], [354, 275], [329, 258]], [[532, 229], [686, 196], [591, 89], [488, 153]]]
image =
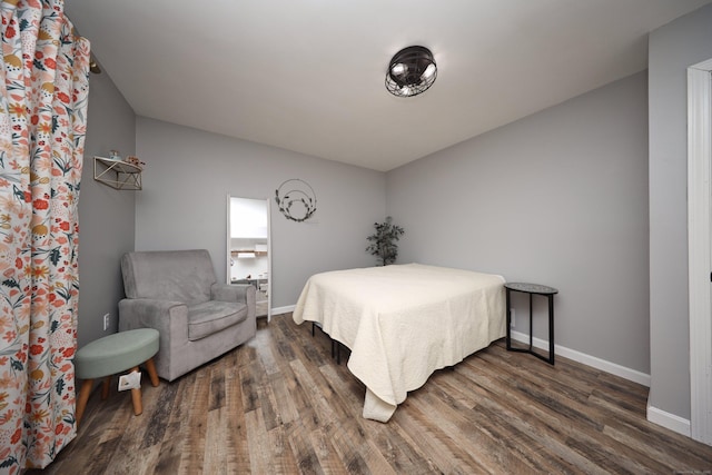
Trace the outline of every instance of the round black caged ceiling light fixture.
[[386, 89], [394, 96], [412, 97], [425, 92], [437, 78], [437, 65], [425, 47], [407, 47], [388, 63]]

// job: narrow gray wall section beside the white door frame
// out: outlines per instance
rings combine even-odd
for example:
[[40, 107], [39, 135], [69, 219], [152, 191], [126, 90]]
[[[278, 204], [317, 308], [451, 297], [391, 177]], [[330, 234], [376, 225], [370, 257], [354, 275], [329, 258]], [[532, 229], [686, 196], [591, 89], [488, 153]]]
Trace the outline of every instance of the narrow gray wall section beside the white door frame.
[[653, 31], [650, 75], [649, 405], [690, 418], [688, 73], [712, 58], [712, 6]]

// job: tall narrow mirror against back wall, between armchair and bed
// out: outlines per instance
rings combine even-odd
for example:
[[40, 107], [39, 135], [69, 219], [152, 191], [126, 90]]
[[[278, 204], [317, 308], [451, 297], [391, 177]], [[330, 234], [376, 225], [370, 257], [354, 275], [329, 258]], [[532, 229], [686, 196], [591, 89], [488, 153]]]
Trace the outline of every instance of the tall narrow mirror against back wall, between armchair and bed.
[[269, 201], [228, 196], [228, 259], [230, 284], [255, 286], [257, 316], [270, 318]]

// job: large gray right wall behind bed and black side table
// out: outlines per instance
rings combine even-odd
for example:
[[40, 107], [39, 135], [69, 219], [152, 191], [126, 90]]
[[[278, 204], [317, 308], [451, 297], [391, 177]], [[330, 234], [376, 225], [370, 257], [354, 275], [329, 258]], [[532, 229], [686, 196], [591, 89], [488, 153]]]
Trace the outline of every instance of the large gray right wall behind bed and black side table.
[[556, 287], [556, 344], [647, 373], [646, 91], [640, 72], [388, 172], [400, 260]]

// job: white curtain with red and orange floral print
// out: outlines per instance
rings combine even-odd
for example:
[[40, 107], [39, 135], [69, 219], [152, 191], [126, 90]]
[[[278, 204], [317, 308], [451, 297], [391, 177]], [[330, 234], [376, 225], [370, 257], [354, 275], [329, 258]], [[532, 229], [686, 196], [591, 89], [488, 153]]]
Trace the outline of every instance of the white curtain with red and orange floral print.
[[0, 68], [0, 473], [76, 435], [77, 205], [89, 42], [62, 0], [8, 0]]

